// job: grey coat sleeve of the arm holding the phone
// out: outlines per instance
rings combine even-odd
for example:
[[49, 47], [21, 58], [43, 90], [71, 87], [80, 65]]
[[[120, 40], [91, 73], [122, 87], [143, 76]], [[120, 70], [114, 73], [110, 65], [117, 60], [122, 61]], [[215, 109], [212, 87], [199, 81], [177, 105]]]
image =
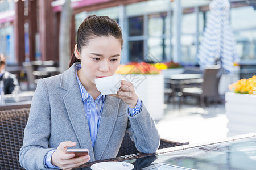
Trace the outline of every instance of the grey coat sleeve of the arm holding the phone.
[[[47, 86], [38, 80], [30, 108], [30, 115], [24, 130], [23, 146], [19, 152], [20, 165], [25, 169], [46, 169], [44, 164], [51, 134], [51, 112]], [[47, 168], [50, 169], [50, 168]]]

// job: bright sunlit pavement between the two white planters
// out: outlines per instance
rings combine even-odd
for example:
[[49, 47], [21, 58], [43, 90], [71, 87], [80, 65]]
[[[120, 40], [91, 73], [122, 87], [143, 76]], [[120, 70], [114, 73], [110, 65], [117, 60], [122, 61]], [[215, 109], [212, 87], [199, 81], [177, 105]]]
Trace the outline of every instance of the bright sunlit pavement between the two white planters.
[[225, 138], [228, 132], [224, 104], [202, 108], [196, 104], [183, 104], [181, 109], [166, 104], [164, 118], [156, 122], [159, 133], [190, 143], [201, 143]]

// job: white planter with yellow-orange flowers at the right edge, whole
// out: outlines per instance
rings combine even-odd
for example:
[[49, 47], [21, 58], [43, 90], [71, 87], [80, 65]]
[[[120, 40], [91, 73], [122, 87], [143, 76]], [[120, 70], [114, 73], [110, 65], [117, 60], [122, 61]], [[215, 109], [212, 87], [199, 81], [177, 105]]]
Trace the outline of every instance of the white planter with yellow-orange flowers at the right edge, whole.
[[256, 76], [241, 79], [229, 86], [225, 94], [228, 136], [256, 131]]

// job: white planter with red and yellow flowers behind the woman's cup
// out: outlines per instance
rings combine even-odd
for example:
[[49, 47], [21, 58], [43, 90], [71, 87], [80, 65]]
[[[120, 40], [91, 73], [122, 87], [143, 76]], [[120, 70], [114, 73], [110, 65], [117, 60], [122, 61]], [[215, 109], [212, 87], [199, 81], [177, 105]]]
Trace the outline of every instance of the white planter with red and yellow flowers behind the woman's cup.
[[120, 65], [115, 74], [121, 74], [123, 80], [133, 83], [135, 91], [146, 105], [154, 120], [163, 118], [164, 78], [161, 70], [146, 62], [131, 62]]

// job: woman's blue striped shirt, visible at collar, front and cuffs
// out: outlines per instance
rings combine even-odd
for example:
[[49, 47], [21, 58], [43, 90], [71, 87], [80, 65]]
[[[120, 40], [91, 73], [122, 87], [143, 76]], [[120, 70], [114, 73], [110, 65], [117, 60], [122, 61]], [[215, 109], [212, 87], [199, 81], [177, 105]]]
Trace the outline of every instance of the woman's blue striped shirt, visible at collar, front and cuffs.
[[[105, 95], [100, 94], [95, 100], [93, 97], [86, 91], [84, 86], [82, 86], [82, 83], [79, 80], [79, 77], [77, 76], [77, 71], [81, 69], [81, 64], [76, 65], [76, 80], [79, 85], [80, 94], [82, 97], [82, 103], [84, 104], [84, 110], [86, 114], [86, 118], [88, 121], [88, 126], [90, 130], [90, 139], [92, 141], [92, 146], [94, 147], [94, 143], [96, 141], [97, 132], [98, 132], [98, 126], [100, 125], [101, 121], [101, 113], [102, 108], [104, 107], [104, 100]], [[138, 99], [137, 104], [134, 108], [128, 107], [128, 112], [130, 116], [134, 116], [135, 114], [141, 112], [142, 108], [142, 101]], [[52, 154], [55, 152], [55, 150], [51, 150], [48, 152], [46, 156], [46, 165], [49, 168], [58, 168], [51, 164], [51, 158]]]

